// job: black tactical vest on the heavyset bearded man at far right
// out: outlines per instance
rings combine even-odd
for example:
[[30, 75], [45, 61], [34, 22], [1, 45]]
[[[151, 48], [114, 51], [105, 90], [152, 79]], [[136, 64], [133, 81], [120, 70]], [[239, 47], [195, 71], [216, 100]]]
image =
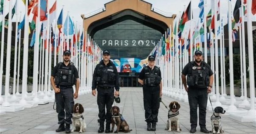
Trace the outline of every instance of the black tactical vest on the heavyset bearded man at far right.
[[189, 63], [192, 73], [187, 75], [187, 85], [197, 88], [206, 88], [209, 85], [209, 72], [205, 67], [205, 62], [201, 66], [196, 66], [195, 62]]

